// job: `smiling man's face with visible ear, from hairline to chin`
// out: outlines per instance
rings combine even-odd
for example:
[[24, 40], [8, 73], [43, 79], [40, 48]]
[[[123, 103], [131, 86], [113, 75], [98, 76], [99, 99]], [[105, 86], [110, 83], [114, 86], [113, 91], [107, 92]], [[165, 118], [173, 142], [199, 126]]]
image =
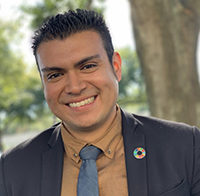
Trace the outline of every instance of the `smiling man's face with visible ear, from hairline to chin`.
[[113, 120], [121, 59], [114, 53], [113, 70], [98, 33], [43, 42], [37, 59], [49, 108], [69, 130], [94, 131]]

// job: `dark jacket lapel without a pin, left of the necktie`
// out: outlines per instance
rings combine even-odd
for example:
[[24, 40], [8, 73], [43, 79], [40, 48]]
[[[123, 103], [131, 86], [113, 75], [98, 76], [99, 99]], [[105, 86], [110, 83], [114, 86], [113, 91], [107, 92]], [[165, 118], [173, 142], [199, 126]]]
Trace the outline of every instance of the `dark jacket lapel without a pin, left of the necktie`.
[[63, 143], [60, 126], [49, 140], [50, 149], [42, 157], [41, 196], [60, 196], [63, 170]]

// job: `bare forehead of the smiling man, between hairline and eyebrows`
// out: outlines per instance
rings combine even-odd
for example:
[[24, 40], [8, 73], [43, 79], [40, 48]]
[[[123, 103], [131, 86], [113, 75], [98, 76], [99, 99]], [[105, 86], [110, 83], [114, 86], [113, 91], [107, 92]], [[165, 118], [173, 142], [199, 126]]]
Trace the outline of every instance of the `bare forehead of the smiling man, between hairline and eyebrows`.
[[106, 53], [100, 35], [95, 31], [75, 33], [64, 40], [42, 42], [37, 50], [37, 60], [54, 62], [59, 59], [79, 60], [85, 55]]

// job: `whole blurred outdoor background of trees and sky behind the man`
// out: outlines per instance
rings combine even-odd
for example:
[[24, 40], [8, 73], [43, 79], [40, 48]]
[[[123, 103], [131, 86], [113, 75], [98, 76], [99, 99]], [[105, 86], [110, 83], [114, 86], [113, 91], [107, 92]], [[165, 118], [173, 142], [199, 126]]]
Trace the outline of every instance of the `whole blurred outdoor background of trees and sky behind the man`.
[[118, 104], [200, 127], [200, 1], [6, 0], [0, 2], [0, 151], [57, 122], [31, 50], [42, 21], [69, 9], [103, 13], [122, 56]]

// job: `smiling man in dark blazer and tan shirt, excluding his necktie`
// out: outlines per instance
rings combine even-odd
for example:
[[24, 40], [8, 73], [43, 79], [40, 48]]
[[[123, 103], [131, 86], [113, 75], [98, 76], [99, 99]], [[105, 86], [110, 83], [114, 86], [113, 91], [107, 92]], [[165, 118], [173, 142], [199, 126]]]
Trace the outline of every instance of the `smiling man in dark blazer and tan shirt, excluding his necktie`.
[[33, 40], [46, 101], [61, 123], [2, 155], [1, 196], [77, 195], [85, 146], [101, 151], [100, 196], [200, 196], [200, 131], [119, 108], [121, 59], [102, 16], [59, 14]]

